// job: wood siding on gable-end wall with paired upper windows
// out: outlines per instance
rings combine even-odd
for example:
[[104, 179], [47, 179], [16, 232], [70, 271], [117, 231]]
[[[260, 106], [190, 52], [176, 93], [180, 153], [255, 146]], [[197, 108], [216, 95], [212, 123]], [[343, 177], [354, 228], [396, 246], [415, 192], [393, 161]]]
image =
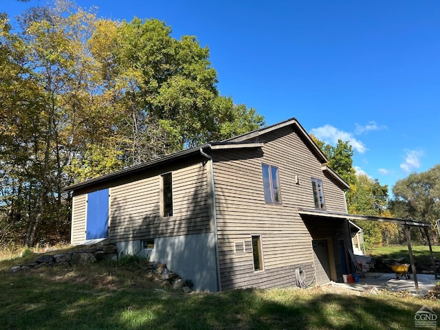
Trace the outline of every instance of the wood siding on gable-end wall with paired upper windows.
[[[312, 236], [298, 214], [298, 208], [315, 207], [311, 177], [323, 181], [327, 210], [345, 211], [344, 192], [326, 177], [314, 153], [291, 126], [262, 138], [262, 152], [243, 151], [241, 157], [231, 151], [213, 153], [222, 289], [252, 283], [259, 287], [294, 285], [298, 267], [305, 270], [307, 284], [314, 278]], [[265, 203], [262, 163], [278, 167], [281, 204]], [[300, 177], [299, 184], [295, 175]], [[252, 234], [261, 234], [261, 272], [254, 272], [252, 253], [234, 252], [235, 243], [250, 240]], [[288, 271], [273, 278], [283, 270]]]

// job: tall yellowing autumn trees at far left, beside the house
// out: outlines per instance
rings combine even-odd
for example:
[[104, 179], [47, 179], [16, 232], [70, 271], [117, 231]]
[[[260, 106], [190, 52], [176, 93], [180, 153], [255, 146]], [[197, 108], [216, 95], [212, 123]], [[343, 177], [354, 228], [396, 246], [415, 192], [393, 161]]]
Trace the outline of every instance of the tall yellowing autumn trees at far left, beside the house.
[[[67, 229], [65, 166], [77, 147], [76, 123], [87, 118], [89, 104], [82, 98], [89, 94], [93, 62], [86, 41], [93, 22], [94, 14], [73, 12], [70, 3], [60, 1], [23, 13], [17, 34], [3, 24], [3, 48], [8, 50], [4, 63], [15, 68], [9, 73], [14, 74], [14, 90], [1, 91], [0, 111], [8, 125], [1, 132], [2, 162], [9, 166], [3, 178], [11, 182], [17, 177], [17, 184], [6, 186], [12, 187], [7, 195], [11, 217], [25, 227], [27, 245], [34, 245], [41, 225], [54, 236]], [[14, 200], [20, 201], [18, 208]]]

